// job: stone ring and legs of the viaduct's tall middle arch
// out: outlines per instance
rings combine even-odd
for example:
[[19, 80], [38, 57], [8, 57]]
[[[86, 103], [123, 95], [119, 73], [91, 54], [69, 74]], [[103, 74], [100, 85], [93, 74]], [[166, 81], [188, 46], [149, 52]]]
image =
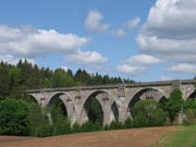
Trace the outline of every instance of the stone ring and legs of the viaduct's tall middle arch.
[[102, 111], [102, 120], [103, 120], [103, 124], [107, 121], [107, 117], [106, 117], [106, 108], [105, 102], [107, 102], [109, 100], [109, 93], [106, 90], [93, 90], [90, 91], [84, 99], [82, 99], [81, 102], [81, 112], [79, 112], [79, 123], [84, 123], [86, 121], [88, 121], [88, 115], [87, 115], [87, 110], [85, 108], [86, 102], [88, 101], [88, 99], [90, 98], [96, 98], [99, 102], [99, 105], [101, 106], [101, 111]]

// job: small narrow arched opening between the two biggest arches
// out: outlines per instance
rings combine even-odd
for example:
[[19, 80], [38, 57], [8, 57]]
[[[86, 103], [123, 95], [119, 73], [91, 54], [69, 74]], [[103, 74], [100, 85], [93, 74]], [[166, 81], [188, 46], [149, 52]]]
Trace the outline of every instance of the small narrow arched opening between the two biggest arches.
[[112, 121], [119, 121], [119, 108], [115, 101], [110, 107], [110, 123]]

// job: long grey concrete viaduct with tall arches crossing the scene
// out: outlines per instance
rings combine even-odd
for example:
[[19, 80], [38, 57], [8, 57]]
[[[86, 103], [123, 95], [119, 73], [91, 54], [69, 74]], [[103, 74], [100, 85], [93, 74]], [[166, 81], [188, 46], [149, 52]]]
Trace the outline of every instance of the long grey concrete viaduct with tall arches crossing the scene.
[[114, 84], [83, 86], [72, 88], [32, 89], [26, 94], [35, 98], [38, 105], [48, 106], [53, 99], [61, 99], [66, 108], [71, 123], [84, 123], [88, 120], [86, 101], [96, 98], [103, 112], [103, 125], [110, 124], [118, 112], [119, 121], [132, 117], [132, 109], [139, 99], [166, 100], [174, 87], [183, 93], [184, 100], [195, 98], [194, 79], [147, 82], [136, 84]]

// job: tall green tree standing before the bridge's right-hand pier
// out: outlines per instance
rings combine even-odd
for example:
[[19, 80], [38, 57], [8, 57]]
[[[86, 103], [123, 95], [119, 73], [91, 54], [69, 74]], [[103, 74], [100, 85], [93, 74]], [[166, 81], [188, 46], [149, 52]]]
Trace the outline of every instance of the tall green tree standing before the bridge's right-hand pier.
[[182, 91], [179, 88], [174, 88], [170, 94], [170, 97], [166, 101], [166, 107], [164, 107], [164, 110], [168, 112], [172, 122], [179, 114], [182, 105], [183, 105]]

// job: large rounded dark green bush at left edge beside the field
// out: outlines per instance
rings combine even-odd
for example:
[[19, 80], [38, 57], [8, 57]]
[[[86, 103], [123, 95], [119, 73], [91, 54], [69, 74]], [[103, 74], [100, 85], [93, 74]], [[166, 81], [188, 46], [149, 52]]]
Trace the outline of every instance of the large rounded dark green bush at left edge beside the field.
[[11, 98], [0, 101], [1, 134], [27, 135], [28, 123], [28, 108], [26, 102]]

